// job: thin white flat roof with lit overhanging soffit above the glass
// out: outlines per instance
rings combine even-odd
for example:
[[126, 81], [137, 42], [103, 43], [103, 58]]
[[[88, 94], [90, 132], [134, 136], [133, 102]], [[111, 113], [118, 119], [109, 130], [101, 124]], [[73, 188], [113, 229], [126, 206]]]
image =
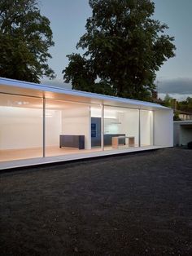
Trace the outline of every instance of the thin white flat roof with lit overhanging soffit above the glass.
[[70, 100], [83, 102], [86, 104], [106, 104], [124, 108], [142, 108], [142, 109], [164, 109], [171, 110], [159, 104], [140, 101], [136, 99], [125, 99], [109, 95], [99, 95], [80, 90], [68, 90], [54, 86], [46, 86], [33, 82], [23, 82], [14, 79], [0, 77], [0, 92], [15, 95], [28, 95], [45, 97], [46, 99]]

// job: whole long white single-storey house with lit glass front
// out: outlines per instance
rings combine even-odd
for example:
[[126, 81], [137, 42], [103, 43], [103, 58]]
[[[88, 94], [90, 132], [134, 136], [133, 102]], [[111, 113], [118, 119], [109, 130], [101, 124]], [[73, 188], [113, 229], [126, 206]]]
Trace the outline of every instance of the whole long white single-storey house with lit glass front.
[[0, 78], [2, 169], [21, 160], [27, 166], [30, 159], [65, 161], [172, 144], [170, 108]]

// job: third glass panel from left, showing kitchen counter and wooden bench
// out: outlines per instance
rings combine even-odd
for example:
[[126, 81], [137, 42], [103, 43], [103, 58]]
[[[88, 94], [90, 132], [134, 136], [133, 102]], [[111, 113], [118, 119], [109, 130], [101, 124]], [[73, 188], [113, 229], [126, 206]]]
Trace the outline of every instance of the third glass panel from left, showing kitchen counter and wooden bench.
[[104, 107], [104, 147], [138, 147], [139, 112], [131, 108]]

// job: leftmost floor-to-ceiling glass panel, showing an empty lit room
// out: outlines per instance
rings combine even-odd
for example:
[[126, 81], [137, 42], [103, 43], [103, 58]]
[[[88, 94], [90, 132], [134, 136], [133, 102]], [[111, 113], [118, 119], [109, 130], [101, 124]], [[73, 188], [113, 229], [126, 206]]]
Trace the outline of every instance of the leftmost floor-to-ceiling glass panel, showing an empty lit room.
[[0, 161], [42, 157], [42, 99], [0, 94]]

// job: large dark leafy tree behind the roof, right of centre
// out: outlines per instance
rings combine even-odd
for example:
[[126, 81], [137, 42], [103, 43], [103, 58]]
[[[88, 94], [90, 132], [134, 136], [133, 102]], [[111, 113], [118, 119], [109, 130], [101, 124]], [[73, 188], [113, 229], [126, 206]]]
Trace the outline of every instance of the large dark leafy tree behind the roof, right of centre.
[[[85, 50], [84, 63], [89, 63], [97, 83], [111, 87], [113, 95], [149, 99], [155, 89], [155, 72], [174, 56], [176, 49], [174, 38], [164, 33], [168, 26], [151, 19], [155, 4], [150, 0], [89, 0], [89, 6], [92, 16], [77, 43], [77, 48]], [[73, 89], [84, 90], [84, 86], [77, 88], [72, 81], [76, 69], [72, 55], [68, 57], [63, 78], [72, 82]], [[83, 67], [78, 70], [81, 73]], [[88, 80], [84, 77], [85, 82]], [[89, 85], [93, 89], [97, 83]]]

